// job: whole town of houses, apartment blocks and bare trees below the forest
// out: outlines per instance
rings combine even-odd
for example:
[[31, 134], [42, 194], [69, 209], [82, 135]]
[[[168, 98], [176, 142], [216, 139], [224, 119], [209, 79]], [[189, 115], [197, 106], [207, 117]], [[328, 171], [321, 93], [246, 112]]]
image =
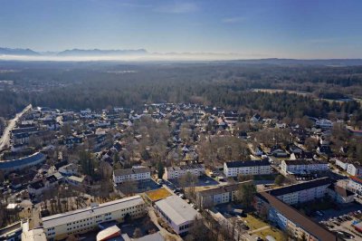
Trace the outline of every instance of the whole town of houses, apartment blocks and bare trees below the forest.
[[0, 239], [362, 240], [349, 121], [29, 106], [2, 130]]

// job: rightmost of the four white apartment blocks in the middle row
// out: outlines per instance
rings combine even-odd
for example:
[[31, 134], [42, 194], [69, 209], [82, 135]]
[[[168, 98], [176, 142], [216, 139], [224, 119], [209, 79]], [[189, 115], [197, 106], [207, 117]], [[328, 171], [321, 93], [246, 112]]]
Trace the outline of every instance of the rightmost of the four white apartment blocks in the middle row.
[[288, 174], [310, 174], [329, 170], [328, 162], [310, 159], [286, 159], [281, 161], [281, 171]]

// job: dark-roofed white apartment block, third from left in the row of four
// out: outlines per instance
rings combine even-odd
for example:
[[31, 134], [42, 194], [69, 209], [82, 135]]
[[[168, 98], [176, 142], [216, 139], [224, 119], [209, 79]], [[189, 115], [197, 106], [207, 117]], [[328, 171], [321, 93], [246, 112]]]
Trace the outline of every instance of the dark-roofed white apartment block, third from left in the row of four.
[[238, 175], [267, 175], [271, 172], [271, 164], [268, 159], [224, 162], [226, 178]]

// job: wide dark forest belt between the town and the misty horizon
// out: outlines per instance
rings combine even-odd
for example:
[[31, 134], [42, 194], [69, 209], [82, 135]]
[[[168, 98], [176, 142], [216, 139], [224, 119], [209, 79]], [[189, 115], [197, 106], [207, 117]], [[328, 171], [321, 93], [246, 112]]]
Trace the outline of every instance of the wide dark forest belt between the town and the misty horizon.
[[334, 111], [362, 120], [362, 66], [2, 62], [0, 70], [0, 116], [29, 102], [60, 110], [192, 102], [276, 117], [327, 117]]

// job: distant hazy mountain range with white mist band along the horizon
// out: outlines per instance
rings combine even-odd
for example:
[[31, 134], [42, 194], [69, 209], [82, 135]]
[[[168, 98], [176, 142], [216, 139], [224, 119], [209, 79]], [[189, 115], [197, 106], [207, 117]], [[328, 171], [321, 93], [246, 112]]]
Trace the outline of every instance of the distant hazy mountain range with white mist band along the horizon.
[[[87, 60], [147, 60], [147, 61], [217, 61], [237, 64], [272, 64], [272, 65], [325, 65], [353, 66], [362, 65], [362, 59], [284, 59], [250, 58], [238, 53], [149, 53], [145, 49], [135, 50], [100, 50], [71, 49], [61, 52], [35, 52], [31, 49], [2, 48], [0, 60], [43, 60], [43, 61], [87, 61]], [[258, 56], [260, 57], [260, 56]]]

